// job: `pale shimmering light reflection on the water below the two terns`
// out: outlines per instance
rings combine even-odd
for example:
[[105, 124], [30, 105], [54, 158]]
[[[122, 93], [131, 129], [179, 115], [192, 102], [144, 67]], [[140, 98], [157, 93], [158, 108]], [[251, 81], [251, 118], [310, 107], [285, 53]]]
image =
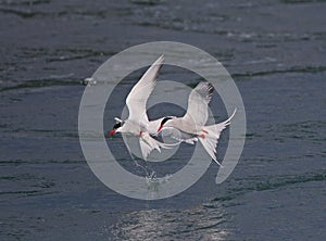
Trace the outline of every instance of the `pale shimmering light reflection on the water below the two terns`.
[[229, 218], [222, 205], [185, 211], [145, 210], [121, 216], [111, 227], [116, 240], [227, 240]]

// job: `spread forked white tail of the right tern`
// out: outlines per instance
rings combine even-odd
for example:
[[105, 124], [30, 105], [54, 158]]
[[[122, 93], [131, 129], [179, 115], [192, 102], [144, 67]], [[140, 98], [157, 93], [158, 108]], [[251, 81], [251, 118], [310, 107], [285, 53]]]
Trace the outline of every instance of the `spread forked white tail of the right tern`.
[[221, 136], [222, 130], [224, 130], [229, 124], [231, 118], [235, 116], [237, 109], [234, 111], [231, 116], [223, 123], [218, 123], [211, 126], [205, 126], [204, 130], [206, 131], [204, 138], [199, 138], [205, 151], [209, 155], [220, 165], [222, 164], [216, 160], [216, 145]]

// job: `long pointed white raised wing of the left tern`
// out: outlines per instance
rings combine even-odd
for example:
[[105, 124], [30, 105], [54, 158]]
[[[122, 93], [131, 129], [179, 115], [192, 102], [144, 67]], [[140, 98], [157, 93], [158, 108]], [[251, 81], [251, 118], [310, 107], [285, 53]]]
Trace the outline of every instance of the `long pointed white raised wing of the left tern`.
[[159, 75], [159, 71], [164, 61], [164, 56], [161, 55], [142, 75], [140, 80], [134, 86], [131, 91], [129, 92], [126, 104], [129, 111], [128, 119], [148, 123], [148, 116], [146, 113], [146, 102], [153, 91], [156, 78]]

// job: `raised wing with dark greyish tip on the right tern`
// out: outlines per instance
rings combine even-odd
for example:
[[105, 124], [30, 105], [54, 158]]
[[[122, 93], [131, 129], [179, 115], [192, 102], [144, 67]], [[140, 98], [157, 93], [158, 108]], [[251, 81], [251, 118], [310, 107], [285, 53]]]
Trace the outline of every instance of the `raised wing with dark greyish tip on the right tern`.
[[187, 113], [183, 117], [185, 123], [204, 126], [209, 117], [209, 103], [213, 94], [213, 86], [210, 83], [200, 83], [190, 92]]

